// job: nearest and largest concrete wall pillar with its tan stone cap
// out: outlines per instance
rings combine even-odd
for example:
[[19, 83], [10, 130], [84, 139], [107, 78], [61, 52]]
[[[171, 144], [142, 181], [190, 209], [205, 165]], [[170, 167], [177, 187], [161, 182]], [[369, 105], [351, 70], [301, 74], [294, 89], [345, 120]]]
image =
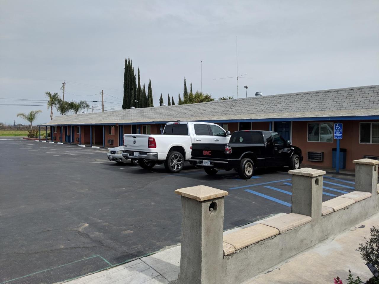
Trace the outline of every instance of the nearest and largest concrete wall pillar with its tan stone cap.
[[182, 234], [178, 284], [222, 283], [224, 196], [208, 186], [175, 190], [182, 196]]

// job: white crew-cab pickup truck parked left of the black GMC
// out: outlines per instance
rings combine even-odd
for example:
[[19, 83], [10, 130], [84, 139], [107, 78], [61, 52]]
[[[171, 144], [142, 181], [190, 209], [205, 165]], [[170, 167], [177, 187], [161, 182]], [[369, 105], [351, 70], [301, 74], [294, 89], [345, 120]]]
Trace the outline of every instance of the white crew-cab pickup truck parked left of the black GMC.
[[191, 158], [193, 143], [228, 143], [230, 131], [214, 123], [169, 122], [163, 134], [125, 134], [122, 156], [138, 159], [144, 169], [163, 164], [168, 172], [183, 169], [184, 161]]

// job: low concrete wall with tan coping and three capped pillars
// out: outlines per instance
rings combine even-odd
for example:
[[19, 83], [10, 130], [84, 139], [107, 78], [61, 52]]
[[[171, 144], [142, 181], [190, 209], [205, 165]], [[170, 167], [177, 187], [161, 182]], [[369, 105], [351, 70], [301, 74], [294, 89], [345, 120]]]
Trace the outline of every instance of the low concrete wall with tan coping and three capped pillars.
[[219, 236], [227, 192], [205, 186], [176, 190], [182, 195], [178, 283], [242, 283], [376, 214], [379, 161], [361, 159], [354, 164], [356, 191], [324, 203], [324, 171], [289, 171], [293, 175], [292, 213], [268, 218], [223, 239]]

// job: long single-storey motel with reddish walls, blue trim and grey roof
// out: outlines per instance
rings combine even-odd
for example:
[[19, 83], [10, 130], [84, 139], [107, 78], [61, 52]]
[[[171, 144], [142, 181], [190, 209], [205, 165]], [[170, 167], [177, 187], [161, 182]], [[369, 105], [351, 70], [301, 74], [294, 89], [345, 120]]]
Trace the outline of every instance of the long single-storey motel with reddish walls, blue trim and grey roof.
[[[379, 159], [379, 85], [56, 116], [54, 142], [99, 147], [123, 145], [124, 134], [160, 134], [172, 121], [217, 123], [237, 130], [271, 130], [302, 149], [303, 165], [335, 167], [334, 123], [342, 123], [340, 169], [353, 160]], [[344, 160], [346, 164], [343, 165]]]

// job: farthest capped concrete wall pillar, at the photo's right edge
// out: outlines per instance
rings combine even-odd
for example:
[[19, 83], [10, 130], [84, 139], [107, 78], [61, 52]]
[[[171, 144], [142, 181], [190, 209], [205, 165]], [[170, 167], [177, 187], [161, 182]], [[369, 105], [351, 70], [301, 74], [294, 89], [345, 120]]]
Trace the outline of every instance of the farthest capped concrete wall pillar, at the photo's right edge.
[[353, 161], [356, 164], [356, 190], [370, 192], [376, 195], [379, 161], [360, 159]]

